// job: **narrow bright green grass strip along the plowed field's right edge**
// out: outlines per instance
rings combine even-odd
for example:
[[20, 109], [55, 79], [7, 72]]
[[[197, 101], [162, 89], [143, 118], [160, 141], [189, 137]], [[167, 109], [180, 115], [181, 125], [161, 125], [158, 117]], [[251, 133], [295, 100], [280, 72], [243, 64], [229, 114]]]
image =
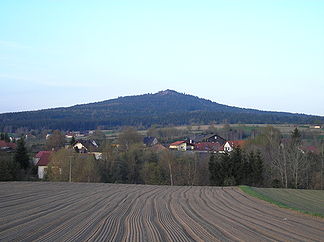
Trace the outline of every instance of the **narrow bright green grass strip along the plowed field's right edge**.
[[239, 186], [239, 188], [243, 192], [245, 192], [246, 194], [248, 194], [248, 195], [250, 195], [252, 197], [255, 197], [255, 198], [261, 199], [263, 201], [269, 202], [269, 203], [274, 204], [274, 205], [276, 205], [276, 206], [278, 206], [280, 208], [291, 209], [291, 210], [294, 210], [294, 211], [298, 211], [300, 213], [304, 213], [304, 214], [308, 214], [308, 215], [312, 215], [312, 216], [324, 218], [324, 215], [321, 214], [321, 213], [313, 213], [313, 212], [306, 211], [306, 210], [303, 210], [303, 209], [291, 207], [291, 206], [289, 206], [289, 205], [287, 205], [285, 203], [276, 201], [276, 200], [272, 199], [271, 197], [265, 196], [264, 194], [261, 194], [261, 193], [255, 191], [255, 190], [253, 190], [252, 187], [242, 185], [242, 186]]

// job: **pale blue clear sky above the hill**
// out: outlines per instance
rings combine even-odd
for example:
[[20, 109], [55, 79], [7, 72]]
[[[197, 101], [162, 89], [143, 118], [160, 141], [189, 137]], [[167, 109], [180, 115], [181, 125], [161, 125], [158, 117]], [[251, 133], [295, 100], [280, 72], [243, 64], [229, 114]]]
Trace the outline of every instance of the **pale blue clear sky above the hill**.
[[324, 116], [324, 1], [1, 0], [0, 113], [173, 89]]

